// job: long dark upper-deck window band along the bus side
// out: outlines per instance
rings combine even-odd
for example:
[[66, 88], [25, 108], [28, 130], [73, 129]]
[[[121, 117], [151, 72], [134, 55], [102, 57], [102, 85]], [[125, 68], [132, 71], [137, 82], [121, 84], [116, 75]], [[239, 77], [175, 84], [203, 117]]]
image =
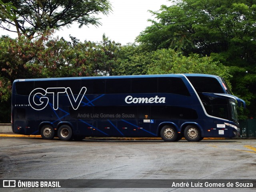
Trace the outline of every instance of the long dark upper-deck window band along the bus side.
[[180, 77], [35, 80], [16, 82], [16, 93], [29, 95], [35, 88], [42, 88], [44, 90], [56, 88], [57, 92], [57, 88], [68, 87], [72, 90], [72, 94], [79, 94], [81, 88], [86, 87], [86, 94], [169, 93], [190, 96], [186, 84]]

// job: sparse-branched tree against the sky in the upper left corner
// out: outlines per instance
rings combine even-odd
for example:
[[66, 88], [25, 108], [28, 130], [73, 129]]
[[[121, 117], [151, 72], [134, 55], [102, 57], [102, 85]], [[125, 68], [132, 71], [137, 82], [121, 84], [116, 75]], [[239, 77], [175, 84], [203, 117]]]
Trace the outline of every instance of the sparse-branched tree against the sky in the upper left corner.
[[95, 15], [110, 11], [108, 0], [0, 0], [0, 28], [32, 39], [37, 32], [73, 22], [98, 26]]

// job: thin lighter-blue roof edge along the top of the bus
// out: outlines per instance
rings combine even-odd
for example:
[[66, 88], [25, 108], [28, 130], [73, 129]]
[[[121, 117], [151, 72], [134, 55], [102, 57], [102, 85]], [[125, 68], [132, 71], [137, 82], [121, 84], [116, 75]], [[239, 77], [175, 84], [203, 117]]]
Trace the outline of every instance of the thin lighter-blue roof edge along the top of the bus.
[[183, 76], [197, 76], [197, 77], [212, 77], [216, 75], [209, 74], [154, 74], [154, 75], [126, 75], [126, 76], [88, 76], [88, 77], [61, 77], [61, 78], [34, 78], [34, 79], [16, 79], [17, 81], [50, 81], [50, 80], [82, 80], [82, 79], [114, 79], [114, 78], [152, 78], [152, 77], [183, 77]]

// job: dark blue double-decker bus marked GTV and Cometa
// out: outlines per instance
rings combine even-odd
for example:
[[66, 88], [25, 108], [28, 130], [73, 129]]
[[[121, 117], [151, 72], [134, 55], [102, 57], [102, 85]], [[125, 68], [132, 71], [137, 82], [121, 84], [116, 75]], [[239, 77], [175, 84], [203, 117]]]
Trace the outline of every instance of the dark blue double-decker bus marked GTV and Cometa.
[[241, 105], [221, 77], [206, 74], [18, 79], [12, 131], [60, 140], [234, 138]]

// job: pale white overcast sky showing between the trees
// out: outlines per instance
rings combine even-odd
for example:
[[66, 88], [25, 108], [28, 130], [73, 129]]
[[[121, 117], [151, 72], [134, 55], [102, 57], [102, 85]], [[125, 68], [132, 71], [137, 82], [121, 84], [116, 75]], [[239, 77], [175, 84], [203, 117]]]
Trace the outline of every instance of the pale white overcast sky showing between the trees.
[[[140, 34], [147, 26], [151, 25], [148, 19], [154, 19], [154, 16], [148, 10], [158, 11], [162, 4], [170, 6], [168, 0], [110, 0], [112, 4], [112, 13], [108, 16], [99, 16], [102, 26], [83, 26], [78, 28], [78, 24], [72, 24], [70, 28], [63, 27], [54, 32], [54, 36], [64, 37], [70, 40], [69, 34], [78, 38], [81, 42], [90, 40], [100, 42], [102, 35], [105, 35], [112, 41], [125, 45], [134, 42], [136, 36]], [[0, 35], [8, 34], [16, 38], [17, 34], [0, 29]]]

